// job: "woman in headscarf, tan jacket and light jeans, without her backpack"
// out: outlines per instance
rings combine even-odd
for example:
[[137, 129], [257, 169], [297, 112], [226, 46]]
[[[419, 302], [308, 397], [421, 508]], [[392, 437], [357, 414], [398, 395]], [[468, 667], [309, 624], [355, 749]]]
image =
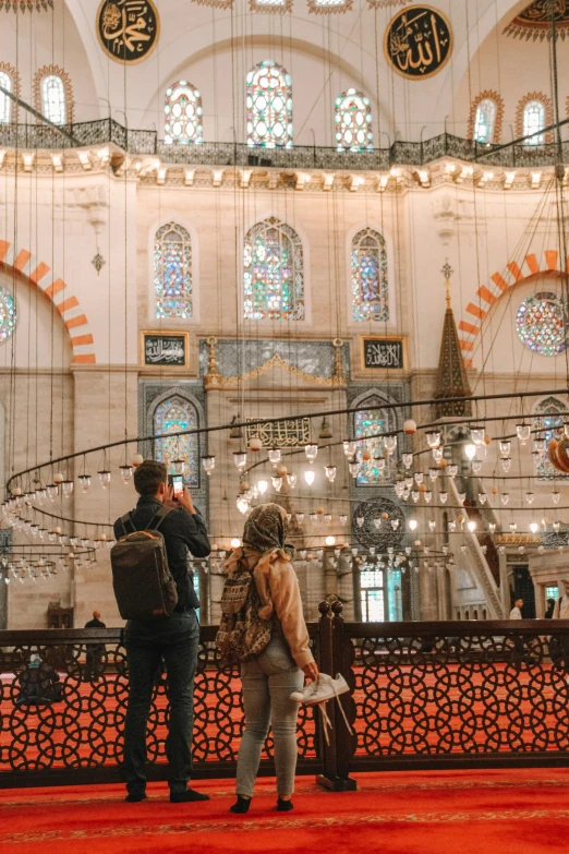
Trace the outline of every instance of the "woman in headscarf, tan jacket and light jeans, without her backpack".
[[291, 563], [294, 548], [286, 542], [286, 534], [287, 514], [282, 507], [262, 504], [245, 522], [243, 545], [226, 564], [230, 575], [245, 562], [261, 600], [259, 616], [271, 623], [270, 640], [263, 652], [241, 663], [245, 732], [239, 748], [238, 799], [231, 807], [238, 814], [249, 810], [269, 725], [275, 739], [277, 810], [292, 809], [299, 703], [290, 695], [302, 687], [304, 676], [318, 676]]

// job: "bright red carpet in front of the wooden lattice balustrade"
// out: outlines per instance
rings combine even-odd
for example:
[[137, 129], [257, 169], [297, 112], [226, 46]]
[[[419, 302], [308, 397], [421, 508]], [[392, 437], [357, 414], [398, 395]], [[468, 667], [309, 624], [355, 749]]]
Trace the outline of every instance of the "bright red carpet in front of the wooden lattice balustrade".
[[569, 770], [358, 774], [359, 791], [298, 780], [295, 808], [271, 810], [262, 780], [232, 816], [231, 780], [198, 781], [206, 804], [170, 804], [164, 783], [125, 804], [120, 785], [0, 791], [0, 852], [41, 854], [547, 854], [569, 847]]

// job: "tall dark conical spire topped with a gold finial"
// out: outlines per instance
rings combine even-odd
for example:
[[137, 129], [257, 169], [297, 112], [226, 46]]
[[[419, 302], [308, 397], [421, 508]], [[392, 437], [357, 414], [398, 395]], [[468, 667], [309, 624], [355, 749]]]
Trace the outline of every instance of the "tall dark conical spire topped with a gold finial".
[[[447, 289], [447, 310], [443, 324], [443, 339], [440, 341], [440, 356], [438, 359], [437, 381], [435, 385], [435, 399], [440, 404], [433, 407], [435, 420], [439, 418], [469, 418], [472, 414], [470, 400], [452, 400], [448, 398], [471, 397], [469, 378], [464, 360], [460, 350], [457, 324], [450, 305], [450, 276], [452, 269], [447, 263], [441, 269], [445, 276]], [[443, 398], [446, 398], [443, 400]]]

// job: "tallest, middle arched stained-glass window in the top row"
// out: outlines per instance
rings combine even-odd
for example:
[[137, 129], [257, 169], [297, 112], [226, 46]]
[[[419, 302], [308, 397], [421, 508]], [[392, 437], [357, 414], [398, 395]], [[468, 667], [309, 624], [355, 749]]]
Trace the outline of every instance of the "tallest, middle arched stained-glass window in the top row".
[[292, 82], [271, 59], [255, 65], [246, 80], [247, 145], [292, 148]]

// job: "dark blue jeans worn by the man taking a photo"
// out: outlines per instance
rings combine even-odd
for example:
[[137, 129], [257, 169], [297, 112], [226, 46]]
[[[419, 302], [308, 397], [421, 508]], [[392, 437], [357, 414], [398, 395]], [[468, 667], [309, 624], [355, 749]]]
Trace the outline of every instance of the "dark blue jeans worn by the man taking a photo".
[[129, 706], [124, 723], [126, 789], [146, 787], [146, 724], [160, 662], [168, 674], [169, 723], [166, 755], [171, 792], [185, 792], [192, 762], [194, 676], [199, 624], [194, 610], [155, 621], [130, 620], [124, 633], [129, 664]]

